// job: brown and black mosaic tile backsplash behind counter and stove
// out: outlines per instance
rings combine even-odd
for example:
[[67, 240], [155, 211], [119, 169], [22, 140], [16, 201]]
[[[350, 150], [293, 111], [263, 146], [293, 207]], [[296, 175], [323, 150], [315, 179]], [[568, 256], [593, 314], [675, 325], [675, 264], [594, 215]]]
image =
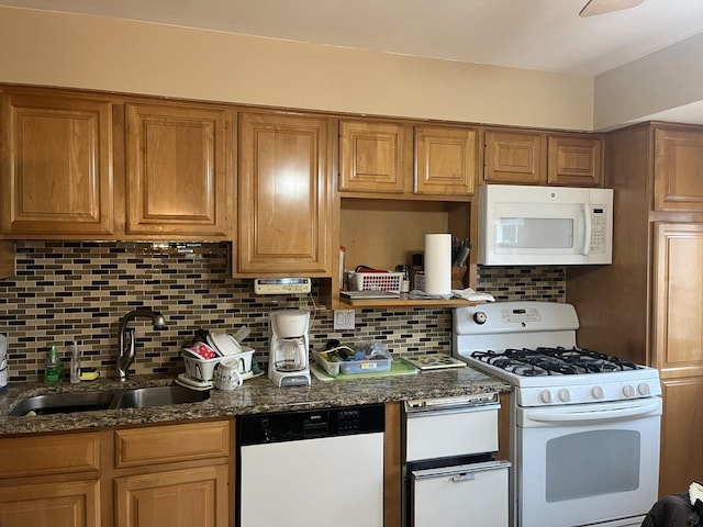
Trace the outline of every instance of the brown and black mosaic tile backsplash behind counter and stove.
[[[69, 344], [80, 343], [82, 365], [114, 375], [118, 324], [137, 307], [160, 311], [167, 328], [137, 318], [134, 373], [177, 374], [178, 354], [199, 328], [234, 333], [265, 363], [268, 313], [275, 307], [311, 307], [308, 296], [257, 296], [249, 280], [230, 277], [230, 244], [18, 242], [16, 274], [0, 280], [0, 333], [8, 337], [10, 381], [38, 381], [47, 347], [55, 343], [68, 373]], [[480, 268], [478, 289], [496, 300], [563, 302], [563, 268]], [[449, 351], [451, 311], [446, 309], [358, 310], [353, 332], [333, 329], [333, 313], [316, 311], [311, 345], [327, 339], [380, 339], [398, 355]]]

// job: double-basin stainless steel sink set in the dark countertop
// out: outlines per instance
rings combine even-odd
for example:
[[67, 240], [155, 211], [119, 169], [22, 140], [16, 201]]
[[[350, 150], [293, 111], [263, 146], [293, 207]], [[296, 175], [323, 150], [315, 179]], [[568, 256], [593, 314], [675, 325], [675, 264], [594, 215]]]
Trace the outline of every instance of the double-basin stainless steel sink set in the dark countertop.
[[183, 386], [150, 386], [101, 392], [51, 393], [20, 401], [9, 415], [69, 414], [96, 410], [145, 408], [167, 404], [198, 403], [210, 399], [210, 391]]

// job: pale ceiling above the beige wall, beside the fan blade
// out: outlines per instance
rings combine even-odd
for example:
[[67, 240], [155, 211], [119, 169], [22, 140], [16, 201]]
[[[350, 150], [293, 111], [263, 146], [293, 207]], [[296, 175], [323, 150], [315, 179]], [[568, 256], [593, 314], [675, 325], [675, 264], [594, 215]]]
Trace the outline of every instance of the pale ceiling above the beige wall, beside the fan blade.
[[0, 0], [0, 5], [596, 76], [703, 32], [703, 0]]

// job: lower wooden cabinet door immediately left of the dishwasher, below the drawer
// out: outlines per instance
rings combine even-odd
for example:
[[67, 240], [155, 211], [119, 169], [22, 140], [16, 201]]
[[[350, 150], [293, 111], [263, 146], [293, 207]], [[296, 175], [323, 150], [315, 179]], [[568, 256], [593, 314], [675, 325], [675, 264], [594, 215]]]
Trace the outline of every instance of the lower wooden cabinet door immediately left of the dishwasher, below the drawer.
[[223, 464], [118, 478], [115, 527], [226, 527], [227, 474]]

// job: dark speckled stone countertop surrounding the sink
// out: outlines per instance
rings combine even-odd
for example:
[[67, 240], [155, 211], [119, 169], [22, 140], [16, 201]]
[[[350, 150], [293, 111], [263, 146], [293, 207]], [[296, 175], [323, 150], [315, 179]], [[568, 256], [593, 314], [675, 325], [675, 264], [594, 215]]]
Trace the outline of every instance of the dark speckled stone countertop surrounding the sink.
[[415, 375], [326, 382], [313, 377], [310, 386], [294, 388], [277, 388], [266, 375], [263, 375], [245, 381], [242, 388], [234, 391], [211, 390], [210, 399], [201, 403], [21, 417], [8, 415], [20, 400], [32, 395], [158, 386], [172, 383], [172, 377], [158, 375], [133, 375], [123, 383], [114, 379], [99, 379], [80, 384], [63, 382], [57, 386], [45, 386], [41, 383], [10, 383], [8, 390], [0, 394], [0, 436], [86, 430], [512, 390], [505, 381], [470, 367], [423, 371]]

